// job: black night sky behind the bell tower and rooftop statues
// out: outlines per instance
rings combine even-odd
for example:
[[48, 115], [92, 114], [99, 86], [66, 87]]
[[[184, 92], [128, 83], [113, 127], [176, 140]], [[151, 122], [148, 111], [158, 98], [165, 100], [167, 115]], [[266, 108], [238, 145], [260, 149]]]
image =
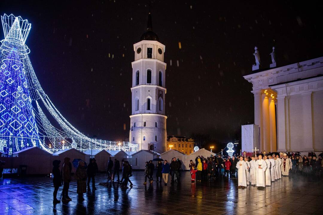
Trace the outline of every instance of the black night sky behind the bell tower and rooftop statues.
[[[42, 2], [1, 1], [0, 10], [32, 24], [26, 44], [44, 91], [84, 134], [129, 137], [133, 44], [146, 31], [149, 1]], [[259, 3], [152, 1], [153, 30], [166, 45], [168, 135], [228, 142], [254, 121], [242, 76], [251, 73], [255, 45], [264, 67], [274, 43], [279, 66], [323, 56], [318, 5]]]

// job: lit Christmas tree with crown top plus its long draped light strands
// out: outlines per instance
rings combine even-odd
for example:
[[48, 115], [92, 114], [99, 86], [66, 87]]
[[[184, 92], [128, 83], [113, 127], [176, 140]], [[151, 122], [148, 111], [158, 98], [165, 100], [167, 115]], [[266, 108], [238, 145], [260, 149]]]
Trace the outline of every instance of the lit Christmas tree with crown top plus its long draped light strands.
[[[40, 146], [50, 153], [66, 148], [139, 150], [138, 144], [89, 138], [73, 127], [50, 101], [36, 77], [25, 44], [31, 24], [20, 16], [5, 14], [1, 18], [5, 39], [1, 41], [0, 55], [0, 150], [7, 154], [31, 146]], [[52, 125], [43, 110], [50, 113], [60, 128]]]

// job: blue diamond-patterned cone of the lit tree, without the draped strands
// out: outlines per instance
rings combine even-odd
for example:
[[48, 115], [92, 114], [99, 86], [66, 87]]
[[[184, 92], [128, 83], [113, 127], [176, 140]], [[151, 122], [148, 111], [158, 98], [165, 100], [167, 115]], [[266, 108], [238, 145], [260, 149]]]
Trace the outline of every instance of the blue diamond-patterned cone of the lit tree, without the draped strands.
[[22, 58], [23, 43], [19, 19], [2, 41], [0, 63], [0, 150], [7, 154], [39, 146], [38, 128]]

